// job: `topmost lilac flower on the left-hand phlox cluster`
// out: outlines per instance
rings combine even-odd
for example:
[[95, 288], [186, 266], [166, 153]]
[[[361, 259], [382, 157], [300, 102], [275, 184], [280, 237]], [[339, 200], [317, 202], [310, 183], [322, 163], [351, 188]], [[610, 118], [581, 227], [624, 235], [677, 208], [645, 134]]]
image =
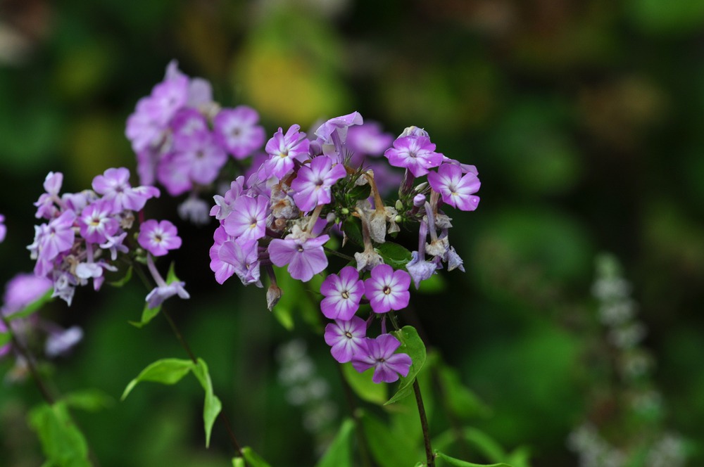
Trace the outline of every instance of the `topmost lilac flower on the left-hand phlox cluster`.
[[103, 199], [112, 203], [112, 213], [123, 210], [139, 211], [146, 204], [146, 200], [159, 196], [159, 191], [153, 186], [130, 185], [130, 171], [125, 167], [107, 169], [102, 175], [93, 179], [93, 189], [103, 195]]

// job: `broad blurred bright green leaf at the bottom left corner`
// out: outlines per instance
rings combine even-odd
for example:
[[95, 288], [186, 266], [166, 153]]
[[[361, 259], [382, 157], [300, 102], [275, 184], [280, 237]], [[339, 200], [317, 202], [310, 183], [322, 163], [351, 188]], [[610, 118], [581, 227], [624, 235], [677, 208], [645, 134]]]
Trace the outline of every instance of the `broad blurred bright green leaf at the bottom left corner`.
[[39, 404], [30, 411], [29, 423], [39, 435], [47, 462], [58, 467], [88, 467], [88, 444], [71, 419], [65, 402]]

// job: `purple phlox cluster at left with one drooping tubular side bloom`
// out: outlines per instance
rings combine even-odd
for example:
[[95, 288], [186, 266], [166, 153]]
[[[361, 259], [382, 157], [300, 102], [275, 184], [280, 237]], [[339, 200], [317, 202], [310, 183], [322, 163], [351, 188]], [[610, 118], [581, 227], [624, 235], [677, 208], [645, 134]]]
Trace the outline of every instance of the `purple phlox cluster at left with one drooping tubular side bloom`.
[[[54, 286], [52, 296], [70, 305], [76, 286], [92, 279], [94, 289], [101, 288], [105, 272], [118, 270], [118, 255], [139, 255], [127, 234], [133, 227], [134, 213], [141, 211], [147, 200], [158, 197], [159, 191], [153, 186], [131, 186], [130, 171], [124, 167], [107, 169], [94, 177], [92, 190], [60, 196], [62, 184], [60, 172], [46, 176], [45, 192], [34, 203], [36, 217], [46, 222], [34, 227], [34, 243], [27, 249], [37, 261], [34, 274], [49, 279]], [[138, 242], [148, 252], [147, 264], [158, 286], [147, 298], [149, 305], [156, 306], [176, 293], [187, 298], [183, 283], [167, 285], [151, 258], [180, 247], [175, 226], [168, 221], [146, 221]], [[155, 295], [158, 298], [153, 298]]]

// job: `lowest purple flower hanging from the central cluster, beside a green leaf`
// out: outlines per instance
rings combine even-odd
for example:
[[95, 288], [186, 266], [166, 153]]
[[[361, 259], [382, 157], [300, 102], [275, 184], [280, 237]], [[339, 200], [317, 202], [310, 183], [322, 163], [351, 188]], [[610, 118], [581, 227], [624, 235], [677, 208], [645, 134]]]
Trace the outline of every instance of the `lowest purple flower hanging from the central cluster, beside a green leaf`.
[[398, 380], [398, 375], [408, 376], [410, 365], [413, 361], [407, 354], [394, 354], [401, 346], [391, 334], [379, 335], [376, 339], [365, 340], [366, 352], [356, 353], [352, 357], [354, 369], [363, 373], [374, 368], [372, 381], [375, 383], [393, 383]]

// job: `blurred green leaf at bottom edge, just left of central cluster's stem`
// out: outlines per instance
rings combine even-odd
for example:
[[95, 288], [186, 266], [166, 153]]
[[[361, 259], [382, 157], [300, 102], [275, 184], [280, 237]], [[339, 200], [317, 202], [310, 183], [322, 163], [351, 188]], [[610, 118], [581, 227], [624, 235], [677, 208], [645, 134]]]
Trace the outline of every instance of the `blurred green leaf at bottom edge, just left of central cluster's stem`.
[[379, 418], [363, 412], [365, 439], [376, 464], [381, 467], [408, 467], [422, 459], [420, 448], [405, 437], [389, 430]]

